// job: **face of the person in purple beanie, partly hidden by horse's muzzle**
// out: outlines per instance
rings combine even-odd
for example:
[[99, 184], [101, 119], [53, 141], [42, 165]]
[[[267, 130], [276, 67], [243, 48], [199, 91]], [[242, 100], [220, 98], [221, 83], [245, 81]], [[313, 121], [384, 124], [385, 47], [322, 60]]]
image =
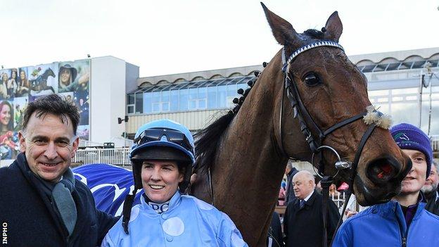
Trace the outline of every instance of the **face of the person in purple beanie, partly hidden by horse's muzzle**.
[[402, 149], [402, 152], [412, 159], [413, 165], [412, 170], [410, 170], [407, 176], [402, 180], [401, 194], [418, 193], [426, 182], [426, 157], [424, 153], [417, 150]]

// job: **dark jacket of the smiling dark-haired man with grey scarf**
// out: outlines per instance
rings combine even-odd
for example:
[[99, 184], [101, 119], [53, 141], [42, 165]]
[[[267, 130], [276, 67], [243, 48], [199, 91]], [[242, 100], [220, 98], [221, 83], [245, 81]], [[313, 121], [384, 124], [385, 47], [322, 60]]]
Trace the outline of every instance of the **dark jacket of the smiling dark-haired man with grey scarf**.
[[72, 198], [77, 222], [68, 238], [61, 216], [23, 153], [9, 167], [0, 168], [0, 184], [0, 224], [7, 224], [8, 246], [99, 246], [117, 221], [97, 210], [89, 188], [76, 180]]

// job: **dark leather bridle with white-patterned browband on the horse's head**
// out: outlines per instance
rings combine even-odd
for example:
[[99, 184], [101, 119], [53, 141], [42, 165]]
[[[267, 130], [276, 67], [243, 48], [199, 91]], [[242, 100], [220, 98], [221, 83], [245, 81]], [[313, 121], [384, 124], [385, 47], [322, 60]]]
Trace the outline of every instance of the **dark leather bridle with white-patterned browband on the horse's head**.
[[[328, 212], [328, 206], [327, 201], [329, 198], [329, 186], [333, 182], [333, 178], [338, 175], [338, 172], [340, 170], [344, 169], [350, 169], [351, 174], [348, 181], [349, 184], [349, 190], [348, 195], [345, 198], [345, 203], [343, 207], [343, 212], [341, 213], [341, 218], [343, 218], [343, 213], [345, 212], [346, 206], [348, 204], [349, 198], [352, 194], [353, 184], [355, 176], [357, 175], [357, 166], [358, 162], [360, 160], [360, 156], [362, 153], [362, 150], [364, 148], [364, 145], [366, 144], [367, 140], [371, 136], [372, 132], [374, 132], [374, 129], [376, 127], [375, 123], [371, 123], [369, 127], [367, 128], [366, 132], [364, 132], [362, 139], [360, 140], [360, 143], [358, 145], [357, 151], [355, 153], [355, 158], [352, 161], [352, 163], [348, 160], [341, 160], [341, 156], [336, 151], [336, 148], [333, 148], [331, 146], [323, 145], [324, 139], [328, 137], [329, 134], [334, 132], [336, 129], [340, 129], [341, 127], [345, 125], [349, 125], [352, 122], [355, 122], [357, 120], [360, 120], [364, 117], [364, 115], [367, 114], [367, 111], [364, 111], [363, 113], [359, 113], [357, 115], [354, 115], [350, 118], [347, 118], [345, 120], [342, 120], [341, 122], [337, 122], [335, 125], [332, 125], [328, 129], [322, 130], [319, 125], [317, 125], [316, 122], [312, 119], [312, 116], [310, 113], [308, 113], [307, 108], [303, 104], [302, 99], [300, 98], [300, 94], [298, 91], [297, 84], [294, 81], [294, 77], [291, 76], [290, 73], [290, 67], [291, 63], [293, 63], [294, 59], [300, 54], [304, 53], [305, 51], [308, 51], [310, 49], [314, 49], [317, 47], [323, 47], [323, 46], [329, 46], [336, 49], [341, 49], [344, 52], [343, 46], [338, 44], [337, 42], [333, 41], [319, 41], [314, 42], [312, 44], [307, 44], [305, 46], [300, 47], [299, 49], [295, 50], [291, 56], [288, 57], [286, 60], [286, 51], [285, 47], [282, 49], [282, 72], [284, 72], [284, 85], [283, 85], [283, 91], [282, 91], [282, 97], [281, 97], [281, 110], [279, 114], [279, 148], [282, 153], [284, 153], [285, 156], [288, 158], [291, 158], [288, 156], [288, 154], [284, 151], [284, 146], [282, 144], [282, 117], [283, 117], [283, 108], [284, 108], [284, 94], [286, 91], [286, 96], [288, 97], [288, 100], [291, 103], [291, 106], [294, 110], [293, 118], [298, 118], [299, 126], [300, 126], [300, 132], [303, 133], [305, 136], [305, 140], [307, 141], [308, 146], [310, 146], [310, 149], [312, 151], [312, 163], [314, 163], [314, 155], [319, 154], [320, 156], [320, 162], [319, 162], [319, 169], [318, 171], [315, 171], [316, 174], [322, 178], [321, 184], [323, 189], [323, 203], [322, 203], [322, 209], [323, 209], [323, 227], [324, 227], [324, 236], [323, 236], [323, 246], [327, 246], [327, 233], [326, 233], [326, 216]], [[377, 112], [378, 115], [382, 115], [382, 113]], [[310, 127], [315, 131], [312, 133]], [[317, 137], [317, 138], [315, 138]], [[327, 149], [335, 154], [337, 157], [337, 161], [335, 163], [337, 172], [335, 175], [325, 175], [324, 173], [324, 166], [325, 166], [325, 160], [322, 155], [322, 150]], [[293, 159], [293, 158], [291, 158]], [[312, 164], [314, 167], [314, 164]], [[338, 224], [336, 227], [336, 230], [334, 232], [337, 232], [338, 227], [341, 224], [341, 218], [338, 220]]]

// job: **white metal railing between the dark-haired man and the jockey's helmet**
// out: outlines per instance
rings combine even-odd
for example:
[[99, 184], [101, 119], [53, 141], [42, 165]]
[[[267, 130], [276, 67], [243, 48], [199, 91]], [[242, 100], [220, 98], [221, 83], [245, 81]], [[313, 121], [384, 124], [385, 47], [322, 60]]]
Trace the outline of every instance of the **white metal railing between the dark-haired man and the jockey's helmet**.
[[129, 148], [87, 148], [76, 152], [72, 163], [130, 165]]

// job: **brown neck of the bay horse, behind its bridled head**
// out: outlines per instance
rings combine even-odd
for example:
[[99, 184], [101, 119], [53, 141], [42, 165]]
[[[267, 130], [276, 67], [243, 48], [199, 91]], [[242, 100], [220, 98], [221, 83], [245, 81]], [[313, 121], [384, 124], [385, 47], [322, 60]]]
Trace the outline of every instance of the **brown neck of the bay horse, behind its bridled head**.
[[215, 205], [241, 231], [246, 229], [243, 234], [250, 246], [265, 243], [287, 161], [274, 137], [274, 109], [282, 85], [276, 81], [281, 75], [265, 73], [222, 137], [212, 170]]

